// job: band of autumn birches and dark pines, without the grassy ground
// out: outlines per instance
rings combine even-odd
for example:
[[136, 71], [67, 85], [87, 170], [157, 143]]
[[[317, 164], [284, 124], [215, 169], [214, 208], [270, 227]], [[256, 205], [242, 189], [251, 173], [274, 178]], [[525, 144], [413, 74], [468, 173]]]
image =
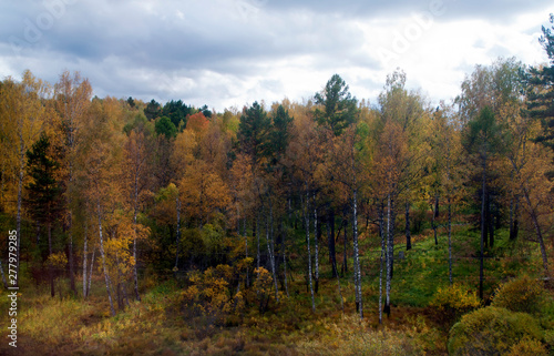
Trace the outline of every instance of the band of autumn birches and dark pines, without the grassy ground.
[[259, 292], [270, 275], [278, 302], [287, 267], [301, 264], [315, 309], [321, 264], [340, 291], [350, 256], [362, 317], [361, 234], [380, 247], [380, 311], [390, 313], [394, 248], [411, 248], [428, 210], [437, 243], [445, 214], [449, 246], [453, 220], [470, 215], [483, 297], [484, 251], [502, 226], [535, 241], [551, 275], [553, 85], [554, 67], [512, 58], [476, 65], [454, 102], [437, 108], [396, 71], [371, 104], [335, 74], [305, 102], [218, 113], [92, 98], [79, 73], [50, 85], [27, 71], [0, 82], [0, 216], [52, 296], [66, 269], [73, 294], [86, 297], [100, 263], [113, 315], [115, 302], [140, 299], [147, 271], [183, 278], [217, 266], [232, 268], [225, 278], [237, 291]]

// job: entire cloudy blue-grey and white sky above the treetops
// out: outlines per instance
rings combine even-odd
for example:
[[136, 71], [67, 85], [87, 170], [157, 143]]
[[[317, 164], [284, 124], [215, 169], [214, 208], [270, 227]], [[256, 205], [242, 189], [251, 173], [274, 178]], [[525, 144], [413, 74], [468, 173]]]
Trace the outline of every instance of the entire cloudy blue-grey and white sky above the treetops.
[[302, 102], [338, 73], [377, 103], [388, 74], [452, 100], [476, 64], [547, 63], [552, 0], [0, 0], [0, 79], [65, 71], [94, 94], [222, 112]]

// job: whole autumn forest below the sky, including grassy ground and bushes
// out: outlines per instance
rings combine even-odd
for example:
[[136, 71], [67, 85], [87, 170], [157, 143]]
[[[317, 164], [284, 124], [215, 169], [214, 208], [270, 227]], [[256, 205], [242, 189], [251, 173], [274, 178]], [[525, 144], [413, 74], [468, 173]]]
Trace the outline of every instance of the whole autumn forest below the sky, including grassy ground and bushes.
[[335, 74], [223, 112], [3, 79], [0, 353], [552, 355], [538, 40], [439, 104], [401, 69], [376, 102]]

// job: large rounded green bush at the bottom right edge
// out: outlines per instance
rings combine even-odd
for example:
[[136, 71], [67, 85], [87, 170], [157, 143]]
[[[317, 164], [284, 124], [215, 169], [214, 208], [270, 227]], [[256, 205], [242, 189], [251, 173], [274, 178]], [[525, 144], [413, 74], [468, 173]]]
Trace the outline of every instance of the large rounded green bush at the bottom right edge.
[[535, 318], [490, 306], [462, 316], [450, 330], [448, 350], [449, 355], [499, 355], [509, 353], [524, 338], [542, 338]]

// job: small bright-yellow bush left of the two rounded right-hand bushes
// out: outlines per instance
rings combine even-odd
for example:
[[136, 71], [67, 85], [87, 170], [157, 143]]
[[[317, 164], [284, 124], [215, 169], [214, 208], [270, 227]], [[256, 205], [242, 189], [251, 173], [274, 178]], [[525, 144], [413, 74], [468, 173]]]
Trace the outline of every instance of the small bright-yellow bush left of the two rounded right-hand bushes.
[[468, 289], [460, 284], [453, 284], [437, 291], [430, 305], [435, 307], [439, 321], [443, 325], [451, 326], [463, 314], [481, 306], [476, 293]]

